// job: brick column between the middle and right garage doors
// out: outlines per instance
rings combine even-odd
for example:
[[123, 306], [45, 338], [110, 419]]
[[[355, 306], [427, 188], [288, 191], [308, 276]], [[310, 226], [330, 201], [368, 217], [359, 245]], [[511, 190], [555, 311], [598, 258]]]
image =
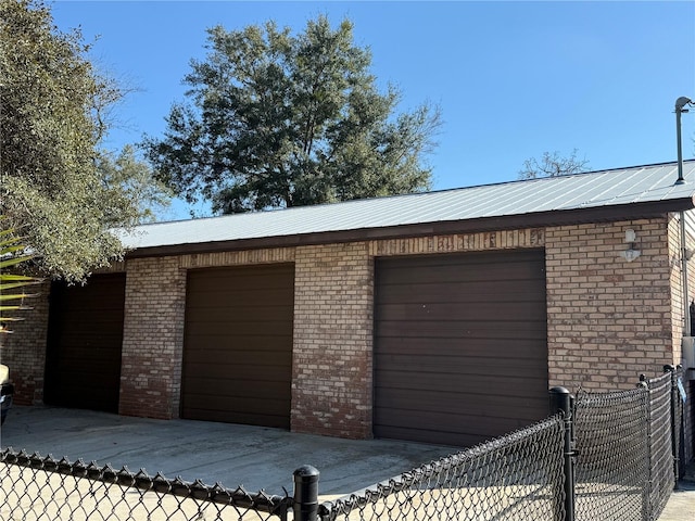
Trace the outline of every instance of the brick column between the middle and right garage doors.
[[371, 437], [372, 288], [366, 243], [296, 249], [292, 431]]

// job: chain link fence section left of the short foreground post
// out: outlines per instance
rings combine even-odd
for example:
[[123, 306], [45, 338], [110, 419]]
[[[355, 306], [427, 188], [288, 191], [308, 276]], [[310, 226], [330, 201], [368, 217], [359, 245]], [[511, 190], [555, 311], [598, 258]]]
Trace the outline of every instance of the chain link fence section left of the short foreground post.
[[144, 470], [56, 461], [11, 448], [0, 453], [0, 461], [3, 521], [285, 521], [292, 505], [290, 497], [168, 480]]

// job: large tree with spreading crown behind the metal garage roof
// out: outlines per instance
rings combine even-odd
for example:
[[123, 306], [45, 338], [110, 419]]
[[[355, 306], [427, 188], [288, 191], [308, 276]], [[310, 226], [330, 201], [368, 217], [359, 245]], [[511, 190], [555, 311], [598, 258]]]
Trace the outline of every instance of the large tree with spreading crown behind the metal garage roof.
[[326, 16], [298, 36], [273, 22], [208, 29], [206, 60], [185, 78], [190, 102], [172, 107], [164, 139], [144, 141], [161, 179], [225, 214], [429, 188], [439, 109], [394, 115], [401, 94], [378, 91], [352, 29]]

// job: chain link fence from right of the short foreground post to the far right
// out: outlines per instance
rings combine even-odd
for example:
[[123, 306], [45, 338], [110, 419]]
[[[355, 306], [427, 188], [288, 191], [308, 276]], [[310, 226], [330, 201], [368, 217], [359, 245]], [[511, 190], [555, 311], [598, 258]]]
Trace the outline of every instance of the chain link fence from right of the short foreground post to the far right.
[[656, 520], [678, 481], [682, 376], [580, 391], [564, 417], [324, 504], [321, 521]]

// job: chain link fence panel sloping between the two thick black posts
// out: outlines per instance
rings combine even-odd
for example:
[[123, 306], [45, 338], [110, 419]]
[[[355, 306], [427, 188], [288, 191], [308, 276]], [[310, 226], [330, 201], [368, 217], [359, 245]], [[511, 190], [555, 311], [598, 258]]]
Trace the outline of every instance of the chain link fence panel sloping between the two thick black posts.
[[563, 418], [454, 454], [320, 506], [333, 520], [563, 519]]

